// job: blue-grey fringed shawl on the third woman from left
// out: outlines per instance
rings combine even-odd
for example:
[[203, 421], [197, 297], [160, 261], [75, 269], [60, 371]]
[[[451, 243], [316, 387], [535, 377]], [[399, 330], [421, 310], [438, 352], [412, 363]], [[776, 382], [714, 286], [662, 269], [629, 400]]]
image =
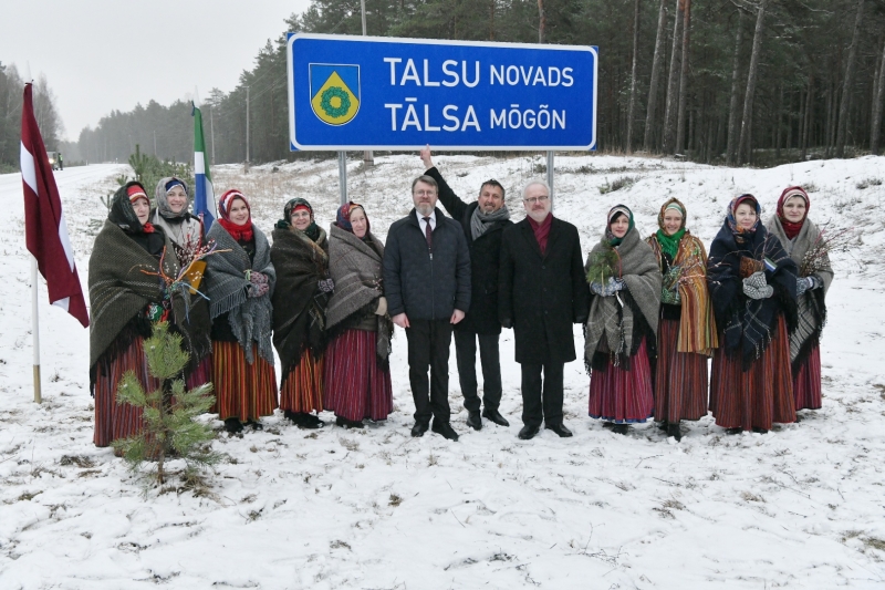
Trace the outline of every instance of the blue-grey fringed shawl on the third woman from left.
[[[277, 273], [270, 259], [270, 246], [264, 234], [253, 226], [256, 240], [254, 259], [237, 240], [225, 229], [221, 224], [212, 224], [207, 240], [215, 240], [218, 252], [205, 258], [206, 294], [209, 298], [209, 311], [212, 320], [227, 313], [228, 323], [237, 337], [237, 342], [242, 346], [249, 364], [254, 362], [252, 342], [258, 345], [258, 354], [273, 363], [273, 349], [271, 348], [271, 318]], [[268, 277], [268, 292], [261, 297], [249, 297], [251, 286], [246, 278], [247, 271], [258, 271]]]

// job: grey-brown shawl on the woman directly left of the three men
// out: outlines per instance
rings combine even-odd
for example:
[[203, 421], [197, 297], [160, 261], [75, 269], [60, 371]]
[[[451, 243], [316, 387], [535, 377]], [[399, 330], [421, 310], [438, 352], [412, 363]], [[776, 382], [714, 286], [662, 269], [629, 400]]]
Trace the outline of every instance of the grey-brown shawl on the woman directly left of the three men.
[[326, 330], [335, 333], [336, 328], [352, 323], [348, 320], [367, 318], [376, 333], [375, 354], [384, 364], [391, 355], [393, 334], [391, 319], [375, 313], [384, 294], [384, 245], [371, 231], [364, 241], [335, 224], [329, 235], [329, 271], [335, 292], [326, 308]]

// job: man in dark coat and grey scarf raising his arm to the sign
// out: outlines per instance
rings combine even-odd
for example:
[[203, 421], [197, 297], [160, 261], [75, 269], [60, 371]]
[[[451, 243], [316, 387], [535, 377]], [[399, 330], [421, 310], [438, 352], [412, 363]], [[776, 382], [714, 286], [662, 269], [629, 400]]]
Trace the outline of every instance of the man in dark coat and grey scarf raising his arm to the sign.
[[[498, 318], [498, 269], [500, 267], [501, 236], [513, 225], [504, 203], [504, 187], [498, 180], [486, 180], [479, 187], [479, 197], [467, 204], [449, 187], [430, 159], [430, 146], [421, 149], [427, 176], [439, 186], [439, 200], [449, 215], [461, 225], [470, 250], [470, 310], [464, 321], [455, 327], [455, 356], [458, 360], [458, 379], [461, 383], [467, 425], [482, 428], [482, 417], [501, 426], [510, 426], [498, 411], [501, 404], [501, 361], [498, 339], [501, 322]], [[477, 395], [477, 340], [482, 364], [482, 403]]]

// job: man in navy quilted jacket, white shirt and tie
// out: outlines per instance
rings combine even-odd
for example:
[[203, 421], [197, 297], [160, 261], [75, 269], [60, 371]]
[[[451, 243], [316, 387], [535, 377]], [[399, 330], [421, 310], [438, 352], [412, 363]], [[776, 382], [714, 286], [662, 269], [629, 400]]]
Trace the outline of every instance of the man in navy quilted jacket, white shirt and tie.
[[436, 180], [429, 176], [412, 183], [415, 208], [387, 232], [384, 296], [391, 318], [408, 340], [412, 436], [424, 436], [433, 415], [433, 431], [457, 441], [449, 423], [449, 346], [452, 327], [470, 309], [470, 255], [461, 227], [436, 208], [437, 198]]

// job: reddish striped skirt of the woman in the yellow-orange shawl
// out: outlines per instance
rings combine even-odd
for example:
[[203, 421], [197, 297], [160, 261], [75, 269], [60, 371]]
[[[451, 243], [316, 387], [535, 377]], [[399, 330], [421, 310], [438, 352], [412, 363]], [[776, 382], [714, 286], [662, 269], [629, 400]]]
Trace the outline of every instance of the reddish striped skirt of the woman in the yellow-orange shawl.
[[655, 420], [677, 423], [707, 415], [707, 356], [676, 352], [679, 320], [660, 320], [655, 371]]

